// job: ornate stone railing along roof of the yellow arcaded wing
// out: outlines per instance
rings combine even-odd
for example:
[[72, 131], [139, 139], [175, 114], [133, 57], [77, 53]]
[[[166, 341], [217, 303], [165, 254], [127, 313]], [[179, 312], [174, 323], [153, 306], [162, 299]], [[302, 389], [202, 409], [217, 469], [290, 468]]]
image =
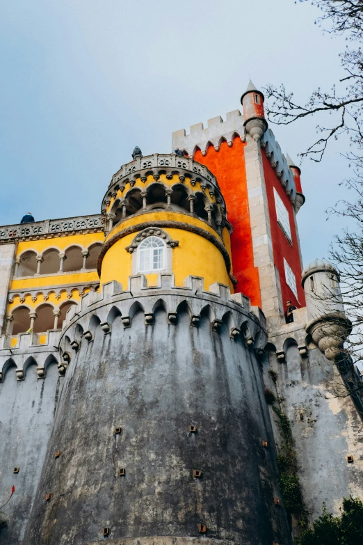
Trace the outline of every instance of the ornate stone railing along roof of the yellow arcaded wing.
[[17, 223], [0, 227], [0, 244], [9, 240], [54, 237], [63, 232], [90, 232], [103, 229], [101, 214], [76, 218], [45, 219], [34, 223]]

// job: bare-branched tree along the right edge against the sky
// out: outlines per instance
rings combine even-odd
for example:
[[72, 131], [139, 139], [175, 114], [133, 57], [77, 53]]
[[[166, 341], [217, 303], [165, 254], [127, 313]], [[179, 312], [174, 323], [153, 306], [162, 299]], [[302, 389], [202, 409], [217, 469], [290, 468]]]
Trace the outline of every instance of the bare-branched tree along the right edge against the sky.
[[[300, 3], [307, 0], [298, 0]], [[354, 230], [346, 229], [334, 237], [330, 258], [337, 265], [346, 315], [353, 325], [353, 334], [344, 346], [339, 370], [344, 379], [332, 392], [338, 397], [353, 394], [363, 400], [363, 383], [355, 365], [363, 361], [363, 1], [309, 0], [321, 10], [316, 23], [325, 32], [345, 35], [348, 45], [341, 53], [342, 77], [330, 90], [318, 87], [306, 104], [299, 104], [284, 85], [267, 86], [268, 119], [277, 125], [289, 125], [302, 118], [317, 118], [323, 125], [316, 127], [318, 138], [301, 157], [321, 161], [331, 139], [346, 135], [350, 147], [344, 154], [353, 175], [344, 183], [352, 191], [352, 200], [341, 200], [329, 212], [353, 219]], [[297, 3], [297, 2], [296, 2]], [[354, 45], [355, 47], [350, 47]], [[325, 123], [326, 114], [332, 122]], [[323, 119], [322, 119], [323, 118]], [[335, 297], [327, 288], [325, 296]], [[339, 383], [339, 384], [338, 384]], [[363, 405], [362, 405], [363, 407]]]

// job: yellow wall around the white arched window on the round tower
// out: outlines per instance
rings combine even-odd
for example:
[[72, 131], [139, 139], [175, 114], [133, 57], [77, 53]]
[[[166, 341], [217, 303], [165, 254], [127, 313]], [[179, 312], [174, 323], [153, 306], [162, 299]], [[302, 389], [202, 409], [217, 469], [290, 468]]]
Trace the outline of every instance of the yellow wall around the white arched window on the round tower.
[[[137, 225], [143, 221], [153, 220], [183, 221], [200, 227], [220, 240], [213, 228], [198, 219], [178, 214], [176, 212], [152, 212], [135, 216], [116, 226], [108, 235], [111, 239], [113, 235], [131, 225]], [[220, 282], [229, 285], [233, 292], [233, 286], [229, 280], [225, 260], [218, 248], [209, 240], [179, 228], [163, 228], [174, 240], [179, 240], [179, 246], [172, 249], [172, 272], [175, 275], [175, 285], [182, 286], [187, 276], [202, 276], [204, 278], [204, 290], [214, 282]], [[132, 274], [132, 260], [136, 259], [136, 253], [130, 254], [125, 248], [131, 244], [136, 232], [119, 239], [111, 248], [108, 249], [102, 261], [101, 283], [118, 281], [122, 284], [124, 290], [127, 290], [128, 279]], [[148, 285], [156, 285], [157, 274], [147, 274]]]

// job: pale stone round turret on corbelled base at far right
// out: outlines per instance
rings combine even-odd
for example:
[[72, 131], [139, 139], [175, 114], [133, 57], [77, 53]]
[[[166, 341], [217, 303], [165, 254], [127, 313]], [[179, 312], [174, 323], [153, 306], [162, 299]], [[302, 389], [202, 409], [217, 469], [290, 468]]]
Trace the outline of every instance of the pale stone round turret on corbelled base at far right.
[[344, 313], [339, 273], [323, 259], [309, 263], [302, 271], [307, 319], [306, 331], [329, 360], [339, 358], [352, 330]]

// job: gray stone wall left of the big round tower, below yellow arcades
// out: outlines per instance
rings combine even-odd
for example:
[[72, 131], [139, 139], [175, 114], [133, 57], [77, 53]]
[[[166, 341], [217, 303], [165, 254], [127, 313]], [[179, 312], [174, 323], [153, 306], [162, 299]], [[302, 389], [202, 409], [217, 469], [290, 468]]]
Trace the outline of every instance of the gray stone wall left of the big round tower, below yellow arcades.
[[[38, 379], [36, 365], [26, 370], [18, 381], [15, 365], [4, 372], [0, 383], [0, 505], [15, 494], [3, 511], [8, 528], [1, 530], [0, 542], [26, 544], [24, 532], [38, 487], [47, 444], [53, 427], [54, 413], [63, 378], [58, 377], [54, 359], [47, 367], [47, 378]], [[13, 473], [15, 467], [19, 473]]]

